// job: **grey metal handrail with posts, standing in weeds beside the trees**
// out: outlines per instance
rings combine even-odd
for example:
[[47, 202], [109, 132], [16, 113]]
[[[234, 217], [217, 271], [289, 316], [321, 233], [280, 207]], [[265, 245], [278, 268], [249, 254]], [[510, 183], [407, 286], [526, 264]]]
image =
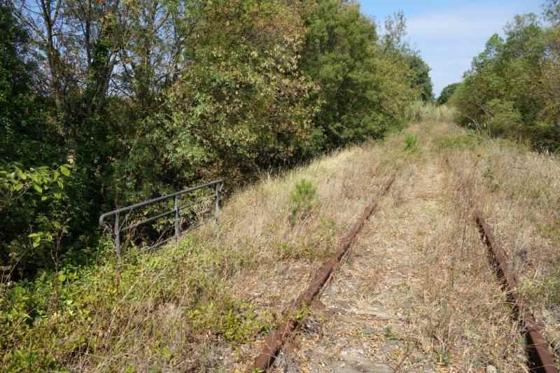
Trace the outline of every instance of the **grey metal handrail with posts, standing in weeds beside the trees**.
[[[175, 230], [175, 237], [169, 237], [163, 241], [160, 241], [160, 239], [162, 237], [160, 237], [160, 239], [158, 239], [155, 244], [148, 246], [147, 248], [144, 248], [143, 251], [147, 251], [151, 248], [155, 248], [158, 247], [162, 244], [164, 244], [167, 241], [171, 241], [171, 239], [175, 238], [176, 241], [179, 241], [179, 237], [181, 236], [181, 234], [186, 234], [187, 232], [190, 232], [190, 230], [195, 229], [195, 227], [200, 227], [200, 225], [202, 225], [203, 223], [199, 223], [197, 225], [195, 225], [195, 227], [189, 227], [188, 230], [186, 230], [185, 232], [181, 232], [181, 224], [180, 224], [180, 220], [181, 220], [181, 211], [184, 209], [187, 209], [188, 207], [192, 207], [195, 206], [196, 204], [202, 204], [202, 202], [205, 201], [209, 201], [214, 199], [214, 218], [216, 219], [216, 223], [218, 223], [218, 215], [220, 213], [220, 193], [223, 189], [223, 183], [224, 183], [224, 179], [220, 178], [218, 180], [214, 180], [211, 181], [209, 183], [205, 183], [202, 185], [197, 185], [193, 188], [188, 188], [185, 190], [180, 190], [179, 192], [174, 192], [171, 193], [169, 195], [165, 195], [162, 197], [157, 197], [157, 198], [153, 198], [153, 199], [149, 199], [148, 201], [144, 201], [144, 202], [139, 202], [137, 204], [132, 204], [130, 206], [125, 206], [122, 207], [120, 209], [116, 209], [113, 211], [109, 211], [107, 213], [102, 214], [102, 216], [99, 216], [99, 225], [101, 227], [109, 227], [111, 228], [111, 231], [113, 232], [113, 234], [115, 235], [115, 251], [117, 254], [118, 259], [120, 260], [120, 254], [121, 254], [121, 244], [120, 244], [120, 234], [121, 232], [125, 231], [125, 230], [132, 230], [132, 228], [138, 227], [139, 225], [142, 224], [146, 224], [146, 223], [151, 223], [154, 220], [158, 220], [160, 218], [164, 218], [165, 216], [169, 216], [171, 214], [174, 213], [174, 219], [173, 219], [173, 223], [174, 223], [174, 230]], [[197, 199], [195, 202], [190, 202], [188, 204], [185, 204], [183, 206], [179, 206], [179, 196], [181, 195], [185, 195], [187, 193], [190, 192], [195, 192], [197, 190], [201, 190], [203, 188], [214, 188], [214, 194], [208, 197], [204, 197], [202, 199]], [[146, 218], [138, 223], [132, 223], [129, 225], [125, 226], [125, 223], [127, 222], [127, 218], [125, 217], [124, 221], [122, 222], [122, 224], [120, 224], [120, 216], [121, 215], [126, 215], [127, 213], [131, 213], [134, 210], [137, 209], [141, 209], [142, 207], [151, 205], [151, 204], [155, 204], [158, 202], [163, 202], [163, 201], [167, 201], [168, 199], [174, 199], [174, 207], [172, 210], [170, 211], [165, 211], [164, 213], [160, 213], [156, 216], [152, 216], [150, 218]], [[211, 211], [211, 210], [209, 210]], [[208, 211], [207, 211], [208, 212]], [[110, 217], [114, 216], [114, 220], [113, 220], [113, 224], [111, 227], [111, 223], [108, 223], [107, 220]], [[169, 228], [166, 230], [166, 232], [169, 231]], [[165, 232], [164, 232], [165, 233]]]

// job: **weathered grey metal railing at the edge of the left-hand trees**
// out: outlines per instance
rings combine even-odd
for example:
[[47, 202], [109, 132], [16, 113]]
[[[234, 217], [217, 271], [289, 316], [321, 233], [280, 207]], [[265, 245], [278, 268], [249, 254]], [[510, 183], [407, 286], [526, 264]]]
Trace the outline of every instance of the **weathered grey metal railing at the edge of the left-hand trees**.
[[[106, 230], [109, 230], [114, 235], [115, 251], [119, 260], [123, 248], [123, 243], [121, 242], [121, 234], [123, 234], [123, 232], [128, 232], [128, 241], [130, 241], [132, 234], [134, 234], [134, 230], [136, 230], [141, 225], [155, 223], [161, 221], [164, 218], [167, 219], [167, 221], [164, 221], [163, 224], [164, 227], [167, 225], [167, 228], [163, 229], [162, 231], [156, 230], [159, 237], [155, 239], [155, 241], [151, 245], [141, 248], [142, 251], [148, 251], [152, 248], [162, 246], [163, 244], [172, 241], [172, 239], [179, 241], [179, 238], [182, 235], [196, 229], [197, 227], [200, 227], [210, 220], [204, 220], [204, 213], [209, 213], [214, 210], [214, 219], [216, 221], [216, 225], [218, 224], [223, 182], [224, 180], [221, 178], [215, 181], [211, 181], [210, 183], [195, 186], [193, 188], [180, 190], [179, 192], [174, 192], [170, 195], [150, 199], [148, 201], [133, 204], [131, 206], [126, 206], [114, 211], [109, 211], [108, 213], [104, 213], [102, 216], [99, 216], [99, 225], [101, 227], [104, 227]], [[195, 199], [195, 201], [193, 201], [192, 199], [188, 199], [188, 201], [186, 201], [186, 204], [181, 206], [181, 197], [189, 197], [188, 195], [192, 197], [194, 192], [202, 192], [204, 190], [210, 191], [211, 194], [206, 195], [200, 199]], [[171, 210], [165, 211], [163, 213], [158, 213], [157, 215], [145, 218], [144, 220], [141, 220], [140, 218], [134, 219], [134, 217], [132, 217], [132, 213], [134, 211], [141, 211], [141, 209], [145, 209], [149, 205], [158, 204], [160, 202], [167, 202], [170, 199], [173, 199], [173, 209]], [[204, 204], [208, 206], [206, 210], [195, 210], [196, 206], [201, 206]], [[190, 209], [190, 214], [181, 213], [181, 211], [184, 211], [186, 209]], [[194, 217], [198, 218], [199, 221], [193, 221], [195, 220], [193, 218], [193, 214]], [[172, 219], [167, 218], [171, 215], [173, 216]], [[112, 221], [110, 220], [110, 218], [113, 218]], [[174, 234], [172, 234], [170, 237], [166, 237], [169, 236], [169, 231], [172, 228], [174, 228]], [[148, 239], [148, 241], [150, 240]]]

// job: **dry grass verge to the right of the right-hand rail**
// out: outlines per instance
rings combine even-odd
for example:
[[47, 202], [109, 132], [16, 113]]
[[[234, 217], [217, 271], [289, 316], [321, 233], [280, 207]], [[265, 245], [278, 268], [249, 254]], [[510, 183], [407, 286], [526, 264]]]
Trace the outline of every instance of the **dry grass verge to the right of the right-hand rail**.
[[529, 301], [529, 311], [544, 321], [559, 358], [560, 162], [510, 141], [483, 139], [455, 128], [451, 132], [463, 143], [470, 138], [462, 150], [444, 150], [456, 183], [493, 225], [519, 279], [519, 293]]

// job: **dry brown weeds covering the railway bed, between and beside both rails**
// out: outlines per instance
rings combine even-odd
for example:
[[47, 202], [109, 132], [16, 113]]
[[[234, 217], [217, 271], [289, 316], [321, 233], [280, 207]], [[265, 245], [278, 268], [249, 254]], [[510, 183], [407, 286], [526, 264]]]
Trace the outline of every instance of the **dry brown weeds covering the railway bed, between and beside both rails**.
[[[416, 149], [404, 150], [406, 134], [416, 134]], [[471, 207], [493, 224], [531, 311], [547, 324], [547, 337], [560, 340], [559, 304], [547, 288], [560, 264], [560, 162], [442, 123], [413, 125], [286, 174], [265, 174], [237, 192], [224, 206], [219, 233], [214, 227], [198, 232], [196, 255], [187, 254], [168, 271], [174, 293], [149, 307], [146, 297], [142, 309], [153, 309], [147, 318], [124, 311], [132, 327], [119, 354], [85, 356], [78, 367], [243, 371], [264, 333], [227, 342], [211, 325], [203, 334], [194, 329], [186, 320], [190, 298], [199, 291], [189, 282], [193, 268], [277, 324], [395, 172], [391, 192], [320, 300], [302, 315], [308, 316], [302, 331], [274, 370], [482, 372], [492, 365], [524, 372], [523, 341], [489, 268]], [[311, 213], [293, 224], [290, 190], [303, 178], [314, 183], [318, 197]], [[202, 304], [221, 302], [211, 289], [202, 293]], [[134, 317], [146, 322], [134, 323]], [[158, 356], [155, 345], [180, 358]]]

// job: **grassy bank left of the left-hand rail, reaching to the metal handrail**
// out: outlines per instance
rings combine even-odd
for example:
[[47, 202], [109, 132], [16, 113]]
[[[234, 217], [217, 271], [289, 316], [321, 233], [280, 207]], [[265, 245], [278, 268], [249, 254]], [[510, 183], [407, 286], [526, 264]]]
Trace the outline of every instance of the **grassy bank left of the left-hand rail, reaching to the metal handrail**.
[[[219, 234], [205, 226], [179, 247], [130, 262], [120, 274], [120, 300], [92, 311], [92, 334], [102, 342], [96, 337], [94, 351], [64, 357], [66, 365], [92, 372], [242, 369], [386, 182], [380, 164], [402, 167], [402, 143], [387, 158], [392, 152], [371, 143], [263, 175], [225, 202]], [[293, 224], [290, 191], [302, 179], [316, 186], [317, 198]], [[114, 282], [111, 270], [106, 278]]]

